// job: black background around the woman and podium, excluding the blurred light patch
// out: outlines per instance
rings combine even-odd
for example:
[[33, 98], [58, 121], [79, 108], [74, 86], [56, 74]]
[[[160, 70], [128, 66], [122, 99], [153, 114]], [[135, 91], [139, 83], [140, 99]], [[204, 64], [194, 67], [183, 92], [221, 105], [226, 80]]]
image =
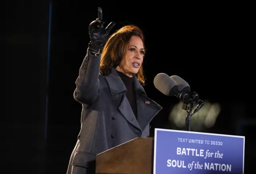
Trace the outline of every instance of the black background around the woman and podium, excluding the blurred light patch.
[[75, 81], [90, 41], [88, 25], [97, 18], [98, 6], [106, 24], [116, 22], [112, 32], [126, 24], [144, 31], [144, 89], [163, 107], [151, 123], [151, 135], [154, 128], [185, 129], [168, 120], [178, 99], [164, 96], [153, 84], [160, 72], [178, 75], [201, 99], [221, 106], [213, 127], [198, 130], [192, 125], [192, 130], [245, 136], [248, 173], [256, 156], [255, 28], [248, 6], [169, 7], [159, 2], [146, 7], [125, 2], [117, 7], [71, 0], [8, 2], [7, 107], [1, 122], [7, 165], [1, 173], [66, 173], [80, 131], [82, 106], [73, 99]]

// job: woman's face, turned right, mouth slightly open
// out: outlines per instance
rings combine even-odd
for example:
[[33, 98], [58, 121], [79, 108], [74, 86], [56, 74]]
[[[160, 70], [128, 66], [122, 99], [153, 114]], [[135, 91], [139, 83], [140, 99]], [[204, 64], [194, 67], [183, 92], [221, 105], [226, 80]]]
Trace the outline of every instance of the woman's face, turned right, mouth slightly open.
[[137, 74], [145, 54], [144, 45], [140, 37], [132, 36], [128, 44], [128, 50], [116, 70], [121, 71], [129, 77]]

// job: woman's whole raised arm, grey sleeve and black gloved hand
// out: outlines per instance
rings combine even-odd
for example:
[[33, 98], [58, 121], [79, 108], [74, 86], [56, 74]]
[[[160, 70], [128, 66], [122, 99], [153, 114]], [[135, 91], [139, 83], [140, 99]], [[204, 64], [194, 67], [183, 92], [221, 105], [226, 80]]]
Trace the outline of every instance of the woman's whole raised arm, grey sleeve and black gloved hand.
[[89, 25], [90, 43], [84, 61], [80, 67], [79, 76], [76, 80], [74, 99], [80, 103], [92, 105], [98, 99], [100, 93], [98, 80], [100, 57], [102, 48], [114, 25], [115, 23], [111, 22], [104, 28], [102, 9], [98, 8], [98, 18]]

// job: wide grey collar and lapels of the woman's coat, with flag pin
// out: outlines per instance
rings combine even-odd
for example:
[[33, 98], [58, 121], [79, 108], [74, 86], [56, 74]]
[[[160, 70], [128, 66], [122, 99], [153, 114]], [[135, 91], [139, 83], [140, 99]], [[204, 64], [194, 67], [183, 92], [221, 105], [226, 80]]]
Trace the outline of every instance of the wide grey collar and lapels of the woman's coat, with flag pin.
[[146, 96], [143, 87], [140, 85], [137, 77], [134, 77], [134, 87], [136, 92], [136, 104], [137, 104], [137, 118], [130, 107], [130, 103], [125, 95], [126, 87], [119, 77], [116, 69], [112, 68], [109, 75], [104, 76], [108, 86], [110, 87], [110, 93], [114, 97], [122, 93], [122, 99], [118, 106], [118, 111], [124, 116], [126, 121], [132, 126], [136, 127], [141, 132], [146, 128], [150, 121], [156, 116], [156, 114], [162, 109], [160, 105]]

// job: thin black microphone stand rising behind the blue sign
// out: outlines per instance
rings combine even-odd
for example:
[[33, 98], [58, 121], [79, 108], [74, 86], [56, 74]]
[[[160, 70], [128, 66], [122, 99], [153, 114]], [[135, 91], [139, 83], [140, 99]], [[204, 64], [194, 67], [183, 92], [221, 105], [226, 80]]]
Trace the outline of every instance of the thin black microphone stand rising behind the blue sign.
[[[196, 109], [192, 113], [195, 104], [198, 103], [196, 106]], [[192, 115], [194, 115], [196, 112], [198, 112], [202, 106], [204, 105], [204, 102], [202, 100], [199, 100], [198, 93], [194, 92], [192, 95], [192, 99], [189, 100], [188, 103], [183, 103], [182, 109], [186, 111], [186, 126], [187, 126], [187, 131], [190, 131], [190, 119]]]

